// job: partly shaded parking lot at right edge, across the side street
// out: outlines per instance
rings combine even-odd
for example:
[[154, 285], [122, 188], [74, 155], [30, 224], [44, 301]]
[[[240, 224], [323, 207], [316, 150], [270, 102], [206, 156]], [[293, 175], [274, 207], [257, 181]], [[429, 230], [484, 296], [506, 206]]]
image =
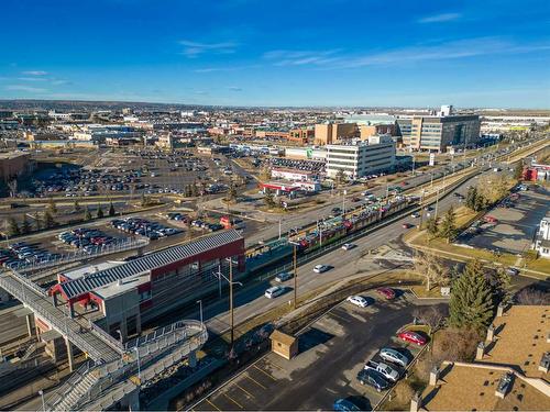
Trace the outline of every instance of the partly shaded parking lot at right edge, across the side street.
[[537, 226], [548, 212], [550, 196], [538, 187], [521, 191], [519, 196], [508, 208], [495, 208], [486, 214], [495, 218], [495, 224], [483, 224], [477, 231], [461, 234], [458, 241], [503, 253], [519, 254], [529, 249]]

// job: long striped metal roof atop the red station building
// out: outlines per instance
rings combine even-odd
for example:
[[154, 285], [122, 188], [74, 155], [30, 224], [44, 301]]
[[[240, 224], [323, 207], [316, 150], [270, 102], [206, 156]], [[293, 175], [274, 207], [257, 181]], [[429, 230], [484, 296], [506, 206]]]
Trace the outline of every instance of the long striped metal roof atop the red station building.
[[211, 236], [201, 237], [195, 242], [186, 243], [164, 250], [145, 255], [135, 260], [127, 261], [105, 270], [82, 276], [80, 278], [61, 282], [54, 288], [65, 294], [67, 299], [80, 297], [87, 292], [101, 288], [102, 286], [116, 282], [119, 279], [127, 279], [132, 276], [151, 271], [172, 263], [201, 254], [207, 250], [243, 240], [235, 230], [218, 232]]

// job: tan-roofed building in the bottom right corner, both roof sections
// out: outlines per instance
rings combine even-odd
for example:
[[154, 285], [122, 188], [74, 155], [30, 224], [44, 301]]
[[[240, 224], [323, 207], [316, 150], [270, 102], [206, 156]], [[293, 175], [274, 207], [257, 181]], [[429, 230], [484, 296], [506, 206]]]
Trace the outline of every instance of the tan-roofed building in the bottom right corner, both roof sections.
[[550, 309], [498, 307], [475, 361], [443, 361], [410, 411], [550, 410]]

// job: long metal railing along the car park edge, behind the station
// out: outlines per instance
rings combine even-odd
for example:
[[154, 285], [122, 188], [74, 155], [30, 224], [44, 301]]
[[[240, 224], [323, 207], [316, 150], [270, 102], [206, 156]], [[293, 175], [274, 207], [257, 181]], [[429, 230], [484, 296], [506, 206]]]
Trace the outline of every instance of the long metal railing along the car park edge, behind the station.
[[124, 250], [131, 250], [131, 249], [135, 249], [139, 247], [144, 247], [144, 246], [148, 245], [148, 243], [150, 243], [150, 241], [146, 237], [138, 237], [138, 238], [128, 237], [128, 238], [121, 240], [119, 242], [114, 242], [110, 245], [100, 247], [94, 252], [86, 252], [84, 249], [77, 249], [73, 253], [67, 253], [67, 254], [61, 255], [59, 257], [57, 257], [53, 260], [32, 261], [32, 263], [21, 261], [20, 264], [12, 265], [10, 268], [14, 269], [14, 270], [19, 270], [20, 272], [45, 269], [45, 268], [55, 267], [55, 266], [59, 266], [59, 265], [64, 265], [64, 264], [69, 264], [73, 261], [94, 259], [94, 258], [109, 255], [109, 254], [116, 254], [116, 253], [120, 253], [120, 252], [124, 252]]

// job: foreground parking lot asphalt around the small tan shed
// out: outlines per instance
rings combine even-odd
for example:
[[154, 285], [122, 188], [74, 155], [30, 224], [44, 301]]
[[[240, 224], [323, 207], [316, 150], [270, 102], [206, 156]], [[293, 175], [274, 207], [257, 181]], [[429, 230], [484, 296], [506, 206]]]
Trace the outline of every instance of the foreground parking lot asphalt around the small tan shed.
[[367, 308], [343, 302], [299, 336], [292, 360], [270, 353], [194, 410], [332, 410], [339, 398], [361, 409], [375, 405], [384, 392], [362, 386], [358, 372], [381, 347], [395, 347], [413, 358], [416, 345], [398, 341], [396, 332], [413, 321], [413, 298], [386, 301], [374, 292]]

